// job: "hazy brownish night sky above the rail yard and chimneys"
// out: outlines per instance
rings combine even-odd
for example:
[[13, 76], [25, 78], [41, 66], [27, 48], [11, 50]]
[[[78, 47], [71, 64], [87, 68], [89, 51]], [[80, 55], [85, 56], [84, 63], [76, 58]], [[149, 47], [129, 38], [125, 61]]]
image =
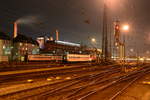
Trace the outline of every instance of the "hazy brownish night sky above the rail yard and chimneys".
[[[124, 33], [128, 53], [132, 48], [134, 51], [138, 48], [141, 54], [149, 53], [149, 4], [149, 0], [108, 0], [109, 26], [116, 19], [130, 25], [130, 31]], [[0, 31], [11, 34], [13, 22], [17, 21], [19, 33], [33, 38], [54, 36], [58, 29], [60, 40], [91, 45], [89, 37], [94, 37], [100, 48], [102, 11], [103, 0], [3, 0], [0, 3]]]

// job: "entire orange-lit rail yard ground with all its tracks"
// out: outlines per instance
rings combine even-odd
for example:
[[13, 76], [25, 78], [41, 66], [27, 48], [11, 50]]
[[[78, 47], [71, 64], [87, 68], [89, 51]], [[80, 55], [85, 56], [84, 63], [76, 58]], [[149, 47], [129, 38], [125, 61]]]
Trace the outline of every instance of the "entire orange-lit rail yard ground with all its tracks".
[[0, 100], [150, 100], [150, 64], [32, 66], [0, 72]]

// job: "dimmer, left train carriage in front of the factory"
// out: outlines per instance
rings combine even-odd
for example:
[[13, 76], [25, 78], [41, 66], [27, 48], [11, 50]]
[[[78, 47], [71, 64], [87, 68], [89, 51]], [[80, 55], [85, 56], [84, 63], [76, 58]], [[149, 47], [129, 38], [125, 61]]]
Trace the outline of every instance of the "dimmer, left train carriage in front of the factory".
[[56, 55], [28, 55], [28, 61], [62, 61], [62, 56]]

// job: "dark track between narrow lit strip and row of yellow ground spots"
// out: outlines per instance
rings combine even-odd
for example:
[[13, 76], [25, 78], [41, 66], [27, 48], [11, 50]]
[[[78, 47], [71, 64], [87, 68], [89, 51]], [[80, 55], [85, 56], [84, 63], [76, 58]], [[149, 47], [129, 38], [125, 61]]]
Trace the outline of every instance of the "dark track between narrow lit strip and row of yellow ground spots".
[[[116, 65], [112, 65], [116, 66]], [[36, 78], [45, 78], [49, 76], [62, 76], [62, 75], [69, 75], [69, 74], [79, 74], [79, 73], [87, 73], [92, 71], [100, 71], [105, 70], [107, 67], [112, 66], [92, 66], [91, 65], [80, 65], [78, 67], [73, 68], [66, 68], [66, 69], [57, 69], [57, 70], [51, 70], [51, 71], [41, 71], [41, 72], [31, 72], [31, 73], [22, 73], [22, 74], [14, 74], [14, 75], [4, 75], [0, 76], [0, 83], [8, 83], [11, 81], [21, 81], [21, 80], [27, 80], [27, 79], [36, 79]]]

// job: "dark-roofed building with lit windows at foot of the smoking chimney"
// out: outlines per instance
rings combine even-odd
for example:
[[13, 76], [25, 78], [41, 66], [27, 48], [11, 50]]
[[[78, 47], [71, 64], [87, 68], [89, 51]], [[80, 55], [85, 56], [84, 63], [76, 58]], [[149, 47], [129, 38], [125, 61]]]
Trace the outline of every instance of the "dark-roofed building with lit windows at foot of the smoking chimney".
[[30, 37], [22, 34], [18, 34], [16, 38], [13, 39], [13, 60], [25, 61], [28, 54], [38, 54], [39, 45], [38, 43]]

